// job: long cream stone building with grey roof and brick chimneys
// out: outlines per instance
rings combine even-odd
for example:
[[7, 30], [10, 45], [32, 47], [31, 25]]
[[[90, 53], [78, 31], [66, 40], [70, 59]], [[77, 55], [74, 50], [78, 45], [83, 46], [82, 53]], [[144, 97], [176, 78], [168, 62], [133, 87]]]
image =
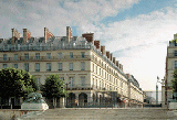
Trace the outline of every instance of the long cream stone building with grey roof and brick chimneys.
[[[15, 32], [15, 33], [14, 33]], [[44, 37], [32, 37], [23, 29], [19, 37], [12, 29], [11, 39], [0, 39], [0, 69], [14, 67], [30, 72], [40, 86], [52, 74], [59, 74], [69, 90], [67, 106], [143, 105], [138, 81], [123, 72], [113, 54], [94, 41], [94, 33], [54, 36], [44, 28]], [[119, 105], [118, 105], [119, 102]]]

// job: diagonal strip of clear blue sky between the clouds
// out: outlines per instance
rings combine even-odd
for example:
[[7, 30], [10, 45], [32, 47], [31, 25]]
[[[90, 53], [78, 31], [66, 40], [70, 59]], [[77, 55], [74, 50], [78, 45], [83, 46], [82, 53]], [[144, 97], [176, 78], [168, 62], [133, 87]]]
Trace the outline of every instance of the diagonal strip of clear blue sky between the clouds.
[[135, 18], [139, 14], [148, 14], [155, 10], [163, 9], [165, 7], [171, 7], [174, 1], [168, 0], [142, 0], [138, 3], [134, 4], [129, 9], [122, 10], [115, 17], [105, 18], [102, 22], [107, 24], [108, 22], [123, 21], [127, 18]]

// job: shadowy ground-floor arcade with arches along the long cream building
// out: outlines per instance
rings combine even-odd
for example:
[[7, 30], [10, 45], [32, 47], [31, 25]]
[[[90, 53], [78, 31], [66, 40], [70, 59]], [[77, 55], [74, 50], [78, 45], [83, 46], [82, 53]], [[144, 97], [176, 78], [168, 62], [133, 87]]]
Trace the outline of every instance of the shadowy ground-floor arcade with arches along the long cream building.
[[142, 108], [143, 103], [129, 100], [116, 91], [72, 90], [65, 102], [66, 107], [115, 107], [115, 108]]

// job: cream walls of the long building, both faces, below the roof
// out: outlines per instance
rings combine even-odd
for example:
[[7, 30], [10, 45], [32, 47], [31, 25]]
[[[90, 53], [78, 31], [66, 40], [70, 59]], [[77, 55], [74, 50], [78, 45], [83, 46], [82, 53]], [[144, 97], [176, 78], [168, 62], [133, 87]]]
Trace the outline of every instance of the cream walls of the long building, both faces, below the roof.
[[[81, 57], [81, 52], [85, 53], [84, 58]], [[51, 54], [51, 58], [46, 57], [48, 53]], [[61, 58], [59, 58], [59, 53], [62, 53]], [[70, 53], [73, 53], [73, 58], [70, 58]], [[59, 74], [65, 83], [73, 77], [73, 86], [69, 85], [67, 88], [93, 87], [94, 90], [117, 91], [119, 96], [128, 98], [127, 78], [91, 50], [1, 52], [0, 56], [4, 54], [7, 61], [3, 61], [3, 57], [0, 58], [0, 68], [3, 68], [3, 64], [7, 64], [8, 67], [14, 67], [14, 64], [18, 64], [18, 68], [24, 69], [24, 64], [29, 64], [30, 74], [40, 78], [41, 84], [44, 84], [48, 76]], [[29, 54], [29, 59], [24, 59], [24, 54]], [[40, 59], [35, 59], [35, 54], [40, 54]], [[18, 59], [14, 59], [14, 55], [18, 55]], [[81, 70], [81, 62], [85, 63], [84, 70]], [[51, 63], [50, 72], [46, 70], [48, 63]], [[62, 63], [62, 70], [59, 70], [59, 63]], [[73, 70], [70, 70], [70, 63], [73, 63]], [[40, 64], [40, 72], [35, 72], [35, 64]], [[84, 86], [81, 85], [81, 77], [85, 77]], [[131, 98], [143, 101], [142, 95], [135, 86], [131, 89]]]

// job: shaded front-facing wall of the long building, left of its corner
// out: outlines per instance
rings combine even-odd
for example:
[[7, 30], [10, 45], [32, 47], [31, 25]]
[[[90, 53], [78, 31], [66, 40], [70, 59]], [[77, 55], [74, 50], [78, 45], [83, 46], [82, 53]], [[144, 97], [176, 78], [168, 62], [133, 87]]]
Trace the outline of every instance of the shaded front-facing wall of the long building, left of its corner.
[[[85, 58], [81, 58], [81, 52], [85, 52]], [[35, 53], [40, 53], [40, 59], [35, 59]], [[46, 54], [51, 53], [51, 58], [46, 58]], [[59, 58], [59, 53], [62, 53], [62, 58]], [[70, 58], [70, 53], [73, 53], [73, 58]], [[3, 57], [0, 58], [0, 68], [3, 68], [3, 64], [7, 64], [8, 67], [14, 67], [14, 64], [18, 64], [18, 68], [24, 69], [24, 64], [29, 64], [29, 72], [34, 75], [37, 78], [41, 79], [41, 84], [44, 84], [44, 79], [51, 74], [59, 74], [61, 77], [67, 78], [67, 74], [73, 74], [75, 79], [80, 79], [80, 76], [85, 76], [85, 79], [88, 79], [87, 74], [91, 70], [91, 58], [90, 51], [32, 51], [32, 52], [1, 52], [0, 56], [7, 55], [8, 61], [3, 61]], [[14, 54], [18, 54], [18, 59], [14, 61]], [[29, 61], [24, 61], [24, 54], [29, 54]], [[10, 59], [9, 59], [10, 58]], [[85, 70], [81, 70], [81, 62], [85, 63]], [[35, 64], [40, 64], [40, 72], [35, 72]], [[46, 64], [51, 63], [51, 70], [46, 70]], [[59, 70], [59, 63], [62, 63], [62, 70]], [[70, 63], [73, 63], [73, 70], [70, 70]], [[79, 84], [76, 80], [75, 84]], [[90, 84], [86, 81], [85, 84]]]

